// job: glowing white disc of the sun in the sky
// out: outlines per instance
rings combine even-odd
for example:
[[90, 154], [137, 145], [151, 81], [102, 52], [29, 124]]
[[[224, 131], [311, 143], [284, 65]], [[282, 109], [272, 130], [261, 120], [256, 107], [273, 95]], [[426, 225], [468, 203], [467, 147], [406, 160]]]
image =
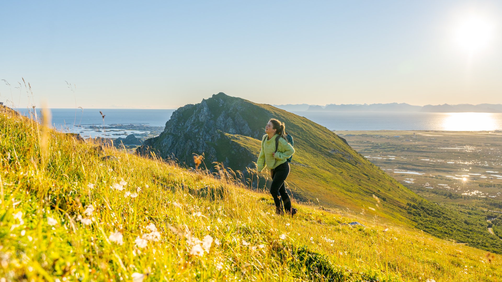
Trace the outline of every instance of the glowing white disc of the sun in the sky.
[[480, 53], [489, 47], [493, 36], [493, 24], [479, 15], [461, 19], [454, 31], [455, 43], [469, 55]]

